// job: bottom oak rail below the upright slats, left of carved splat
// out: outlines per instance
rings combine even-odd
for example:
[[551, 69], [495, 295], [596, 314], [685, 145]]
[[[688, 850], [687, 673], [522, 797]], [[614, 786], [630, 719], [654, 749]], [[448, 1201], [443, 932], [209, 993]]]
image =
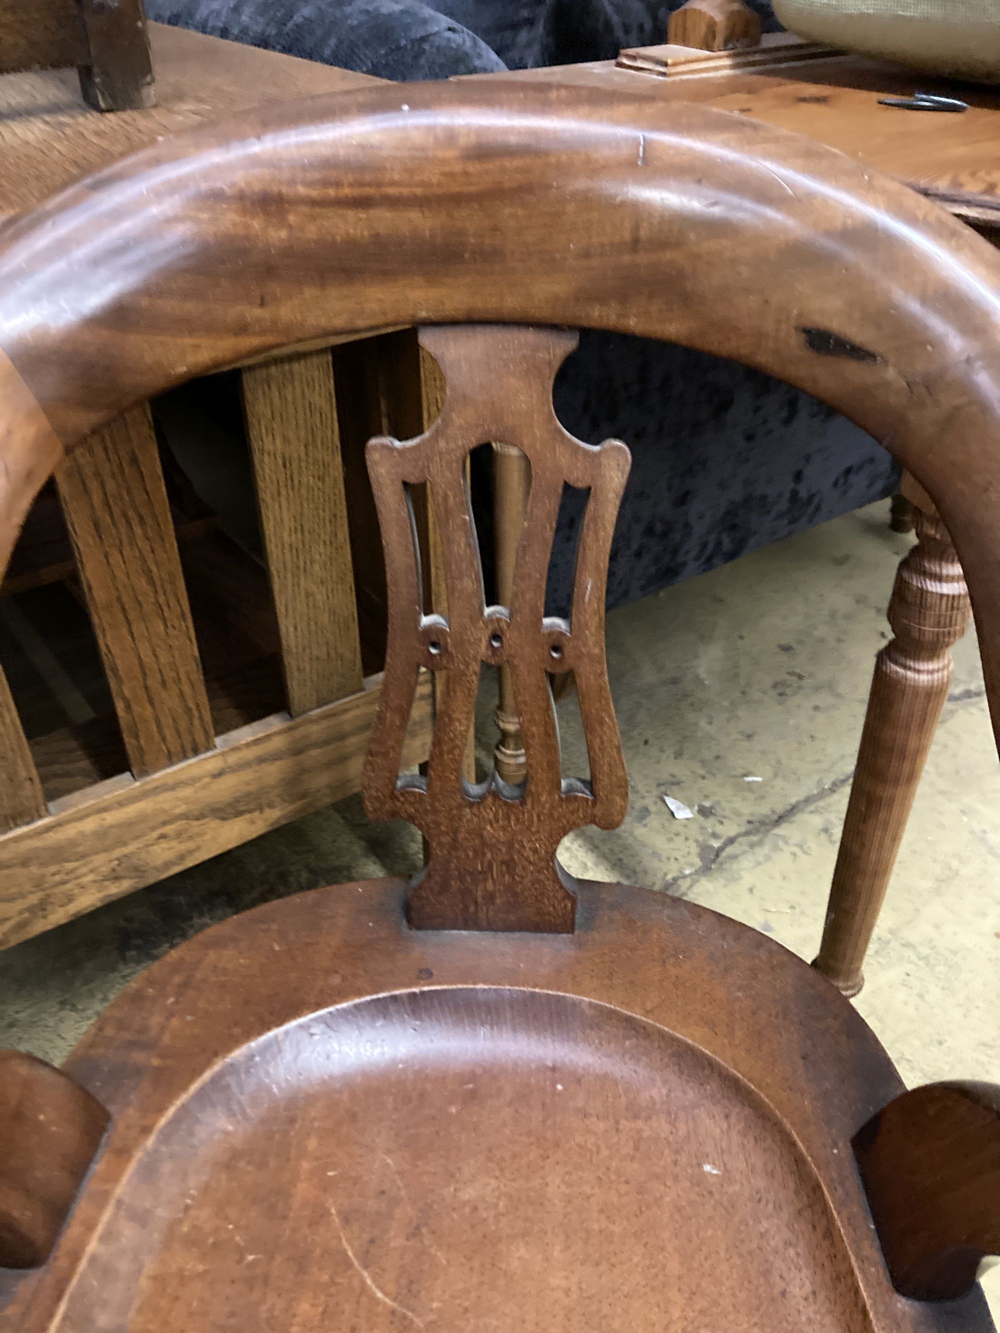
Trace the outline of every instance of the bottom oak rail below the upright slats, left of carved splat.
[[[217, 856], [361, 785], [381, 677], [301, 717], [280, 713], [152, 777], [112, 778], [0, 837], [0, 948]], [[431, 682], [421, 673], [407, 765], [427, 758]]]

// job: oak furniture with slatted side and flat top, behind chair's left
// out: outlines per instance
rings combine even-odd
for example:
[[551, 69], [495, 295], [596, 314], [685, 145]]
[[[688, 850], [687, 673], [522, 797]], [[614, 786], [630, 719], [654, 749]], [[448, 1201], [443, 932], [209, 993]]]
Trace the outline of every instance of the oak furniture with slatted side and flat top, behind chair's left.
[[[376, 84], [161, 24], [149, 36], [159, 97], [147, 109], [95, 115], [72, 71], [0, 77], [7, 225], [76, 176], [205, 117]], [[0, 945], [360, 786], [385, 596], [364, 441], [420, 429], [440, 389], [411, 332], [251, 361], [233, 375], [269, 579], [217, 531], [137, 404], [57, 471], [0, 584], [3, 619], [15, 595], [68, 581], [113, 702], [32, 732], [25, 749], [0, 681]], [[415, 762], [427, 757], [428, 689]]]

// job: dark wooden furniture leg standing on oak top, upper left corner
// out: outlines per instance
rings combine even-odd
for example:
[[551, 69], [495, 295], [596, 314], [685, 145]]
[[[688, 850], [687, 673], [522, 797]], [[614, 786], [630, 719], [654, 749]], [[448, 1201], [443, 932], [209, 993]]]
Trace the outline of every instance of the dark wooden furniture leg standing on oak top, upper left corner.
[[143, 0], [0, 0], [0, 73], [67, 67], [95, 111], [152, 107]]

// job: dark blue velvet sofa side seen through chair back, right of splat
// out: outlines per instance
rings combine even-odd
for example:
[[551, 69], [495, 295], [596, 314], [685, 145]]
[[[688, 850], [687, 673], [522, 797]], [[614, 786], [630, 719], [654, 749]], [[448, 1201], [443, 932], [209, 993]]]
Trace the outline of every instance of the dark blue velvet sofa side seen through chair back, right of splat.
[[[816, 399], [735, 361], [648, 339], [584, 331], [553, 401], [579, 439], [613, 436], [632, 451], [608, 607], [881, 499], [899, 475], [871, 436]], [[573, 516], [564, 505], [549, 615], [568, 609]]]

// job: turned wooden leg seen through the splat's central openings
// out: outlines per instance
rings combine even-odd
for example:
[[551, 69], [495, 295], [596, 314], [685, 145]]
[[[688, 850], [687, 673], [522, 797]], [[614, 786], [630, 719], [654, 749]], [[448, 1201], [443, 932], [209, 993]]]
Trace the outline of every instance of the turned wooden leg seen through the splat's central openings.
[[[496, 557], [496, 599], [501, 607], [511, 605], [513, 567], [517, 543], [521, 539], [524, 513], [531, 489], [531, 465], [520, 449], [509, 444], [493, 445], [493, 527]], [[499, 706], [495, 713], [500, 732], [493, 762], [505, 782], [523, 782], [525, 774], [524, 738], [517, 717], [517, 700], [507, 666], [499, 666]]]

